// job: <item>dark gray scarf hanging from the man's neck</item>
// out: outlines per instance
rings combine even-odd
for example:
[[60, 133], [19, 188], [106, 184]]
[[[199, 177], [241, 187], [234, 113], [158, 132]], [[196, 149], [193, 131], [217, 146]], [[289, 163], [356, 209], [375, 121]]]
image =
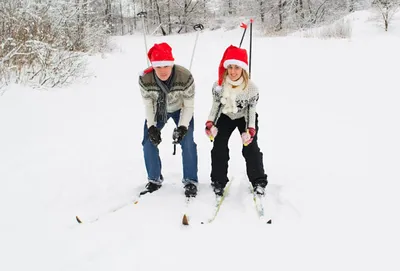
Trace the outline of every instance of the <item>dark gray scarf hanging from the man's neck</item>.
[[170, 93], [172, 84], [174, 82], [175, 66], [172, 68], [171, 75], [166, 81], [161, 81], [160, 78], [154, 72], [154, 78], [157, 85], [160, 87], [161, 92], [157, 99], [157, 110], [154, 116], [154, 121], [156, 122], [167, 122], [167, 94]]

